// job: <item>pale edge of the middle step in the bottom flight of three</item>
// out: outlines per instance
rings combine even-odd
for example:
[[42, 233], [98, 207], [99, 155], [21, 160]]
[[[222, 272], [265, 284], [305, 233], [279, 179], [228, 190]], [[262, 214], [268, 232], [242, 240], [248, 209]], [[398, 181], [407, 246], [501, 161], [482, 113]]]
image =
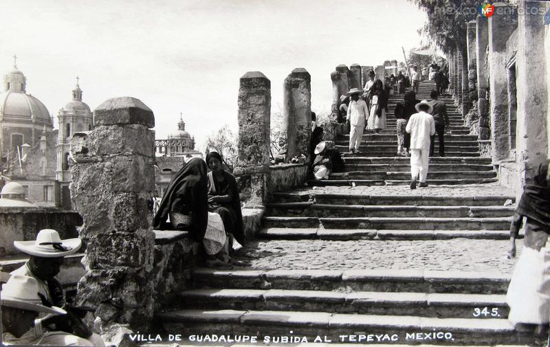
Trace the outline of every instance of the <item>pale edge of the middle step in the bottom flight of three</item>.
[[[417, 293], [353, 291], [312, 291], [298, 289], [193, 289], [177, 293], [178, 298], [188, 300], [292, 300], [314, 301], [318, 303], [344, 304], [360, 300], [362, 304], [395, 306], [399, 304], [415, 306], [455, 306], [489, 307], [507, 306], [505, 294], [465, 294], [465, 293]], [[472, 314], [473, 315], [473, 314]]]

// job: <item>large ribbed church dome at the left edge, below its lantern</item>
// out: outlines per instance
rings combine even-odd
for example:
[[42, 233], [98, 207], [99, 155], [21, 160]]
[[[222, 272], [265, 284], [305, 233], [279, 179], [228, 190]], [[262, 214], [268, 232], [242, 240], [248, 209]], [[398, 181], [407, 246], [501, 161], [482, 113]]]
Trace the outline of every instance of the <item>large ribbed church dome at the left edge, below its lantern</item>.
[[12, 120], [41, 120], [47, 124], [51, 124], [50, 112], [47, 111], [44, 104], [22, 92], [5, 91], [0, 96], [0, 112], [3, 114], [3, 119]]

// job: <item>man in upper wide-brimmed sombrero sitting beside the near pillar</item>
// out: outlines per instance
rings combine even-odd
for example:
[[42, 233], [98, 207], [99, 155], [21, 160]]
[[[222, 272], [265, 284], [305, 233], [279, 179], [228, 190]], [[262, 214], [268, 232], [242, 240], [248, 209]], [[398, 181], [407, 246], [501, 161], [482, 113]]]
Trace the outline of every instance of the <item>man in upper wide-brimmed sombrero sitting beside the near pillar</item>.
[[45, 302], [69, 310], [67, 315], [61, 317], [39, 315], [34, 328], [22, 337], [28, 344], [38, 341], [45, 344], [44, 341], [47, 341], [47, 344], [61, 346], [105, 346], [101, 337], [91, 333], [76, 317], [76, 310], [67, 307], [63, 287], [55, 277], [61, 270], [63, 258], [76, 253], [81, 245], [80, 238], [61, 240], [58, 232], [52, 229], [41, 230], [34, 241], [14, 241], [14, 246], [29, 254], [30, 258], [25, 265], [12, 271], [12, 275], [34, 278], [39, 285], [39, 295]]

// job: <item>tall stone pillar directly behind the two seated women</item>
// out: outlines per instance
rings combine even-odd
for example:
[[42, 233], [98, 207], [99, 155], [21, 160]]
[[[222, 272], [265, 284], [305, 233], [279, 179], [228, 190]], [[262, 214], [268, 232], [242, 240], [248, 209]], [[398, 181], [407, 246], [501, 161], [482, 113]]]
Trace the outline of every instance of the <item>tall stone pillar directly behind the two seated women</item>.
[[247, 72], [239, 87], [239, 157], [233, 171], [242, 200], [265, 206], [270, 179], [271, 82], [259, 71]]

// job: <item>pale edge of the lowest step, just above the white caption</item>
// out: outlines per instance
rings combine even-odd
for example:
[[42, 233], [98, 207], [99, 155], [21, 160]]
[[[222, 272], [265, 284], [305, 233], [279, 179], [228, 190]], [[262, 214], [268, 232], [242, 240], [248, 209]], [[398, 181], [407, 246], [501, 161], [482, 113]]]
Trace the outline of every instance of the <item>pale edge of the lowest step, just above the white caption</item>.
[[434, 318], [397, 315], [362, 315], [295, 311], [177, 310], [155, 315], [164, 322], [222, 323], [254, 326], [307, 326], [308, 328], [383, 328], [384, 331], [414, 329], [415, 331], [514, 333], [505, 319]]

